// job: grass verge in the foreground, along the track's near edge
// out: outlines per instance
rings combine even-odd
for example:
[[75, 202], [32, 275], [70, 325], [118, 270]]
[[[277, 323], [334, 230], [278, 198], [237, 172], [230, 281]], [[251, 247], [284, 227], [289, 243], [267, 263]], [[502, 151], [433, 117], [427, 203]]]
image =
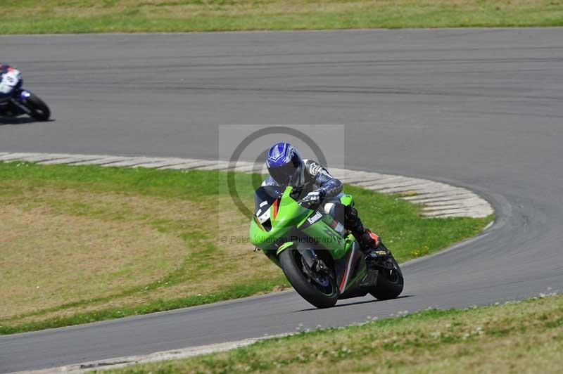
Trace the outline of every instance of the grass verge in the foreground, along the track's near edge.
[[103, 373], [561, 373], [562, 367], [563, 296], [550, 295], [421, 311]]

